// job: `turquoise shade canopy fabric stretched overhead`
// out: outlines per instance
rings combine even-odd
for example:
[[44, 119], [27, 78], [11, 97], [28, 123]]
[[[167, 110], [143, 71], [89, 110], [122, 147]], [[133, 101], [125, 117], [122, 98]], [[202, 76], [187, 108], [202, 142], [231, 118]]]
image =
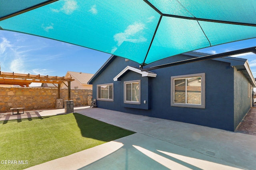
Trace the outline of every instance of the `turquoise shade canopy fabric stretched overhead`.
[[44, 2], [49, 1], [0, 0], [0, 29], [96, 49], [142, 65], [256, 37], [256, 0], [58, 0], [4, 18]]

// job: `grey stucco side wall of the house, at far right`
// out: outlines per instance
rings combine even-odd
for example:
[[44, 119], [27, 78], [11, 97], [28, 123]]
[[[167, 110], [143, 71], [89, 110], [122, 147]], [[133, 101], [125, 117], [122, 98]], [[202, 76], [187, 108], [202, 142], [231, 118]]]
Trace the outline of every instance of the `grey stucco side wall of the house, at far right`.
[[244, 74], [234, 68], [234, 130], [251, 107], [251, 95], [248, 98], [248, 80]]

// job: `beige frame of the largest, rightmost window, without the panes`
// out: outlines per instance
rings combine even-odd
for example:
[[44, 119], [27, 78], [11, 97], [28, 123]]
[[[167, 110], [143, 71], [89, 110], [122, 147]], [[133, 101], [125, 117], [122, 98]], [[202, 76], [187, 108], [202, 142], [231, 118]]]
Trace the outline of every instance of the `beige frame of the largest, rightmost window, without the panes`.
[[[174, 80], [175, 79], [192, 78], [192, 77], [201, 77], [201, 104], [174, 103], [174, 90], [175, 90]], [[205, 109], [205, 73], [187, 74], [187, 75], [181, 75], [181, 76], [171, 76], [171, 106]]]

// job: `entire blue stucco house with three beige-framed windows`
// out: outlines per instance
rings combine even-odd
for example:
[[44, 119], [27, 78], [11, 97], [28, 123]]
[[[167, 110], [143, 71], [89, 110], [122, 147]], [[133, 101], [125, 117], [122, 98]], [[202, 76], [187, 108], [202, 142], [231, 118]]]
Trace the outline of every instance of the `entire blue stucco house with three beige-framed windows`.
[[[147, 67], [202, 57], [188, 52]], [[141, 71], [112, 55], [90, 79], [100, 108], [234, 131], [252, 106], [254, 77], [246, 59], [222, 57]]]

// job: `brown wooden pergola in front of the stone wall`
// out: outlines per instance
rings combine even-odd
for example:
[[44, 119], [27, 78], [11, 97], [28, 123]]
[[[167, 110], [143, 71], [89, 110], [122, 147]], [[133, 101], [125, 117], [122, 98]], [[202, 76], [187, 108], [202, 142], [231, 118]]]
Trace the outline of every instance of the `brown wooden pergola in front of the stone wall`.
[[0, 84], [19, 85], [22, 87], [29, 87], [32, 82], [58, 84], [58, 99], [60, 99], [60, 84], [68, 82], [68, 85], [65, 85], [68, 87], [68, 100], [70, 100], [70, 82], [72, 81], [74, 81], [72, 77], [41, 76], [40, 74], [32, 75], [0, 71]]

